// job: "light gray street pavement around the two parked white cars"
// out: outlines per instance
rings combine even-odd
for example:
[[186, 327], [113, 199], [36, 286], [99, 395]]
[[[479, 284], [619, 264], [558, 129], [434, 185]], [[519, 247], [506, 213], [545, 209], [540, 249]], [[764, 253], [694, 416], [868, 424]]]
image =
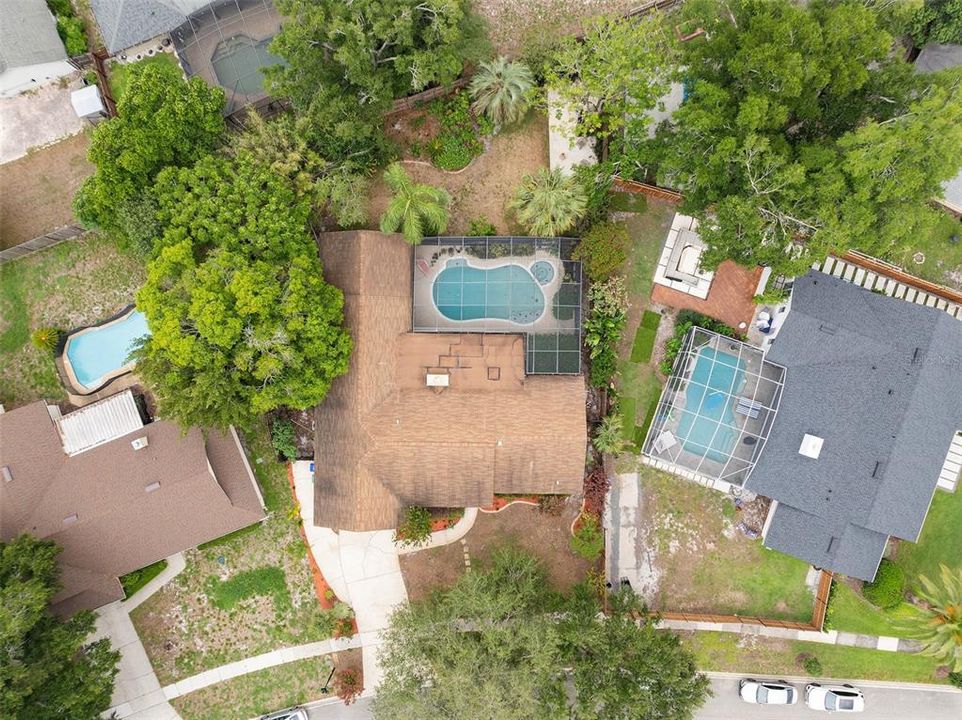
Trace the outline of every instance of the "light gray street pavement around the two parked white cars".
[[[778, 678], [772, 678], [778, 679]], [[794, 682], [792, 678], [786, 678]], [[798, 704], [788, 707], [750, 705], [738, 697], [738, 679], [712, 677], [715, 696], [695, 715], [696, 720], [782, 720], [782, 718], [836, 717], [805, 707], [802, 694], [805, 681], [795, 683]], [[912, 687], [876, 687], [856, 684], [865, 694], [865, 712], [853, 717], [862, 720], [959, 720], [962, 718], [962, 693], [923, 690]], [[847, 717], [847, 716], [846, 716]]]

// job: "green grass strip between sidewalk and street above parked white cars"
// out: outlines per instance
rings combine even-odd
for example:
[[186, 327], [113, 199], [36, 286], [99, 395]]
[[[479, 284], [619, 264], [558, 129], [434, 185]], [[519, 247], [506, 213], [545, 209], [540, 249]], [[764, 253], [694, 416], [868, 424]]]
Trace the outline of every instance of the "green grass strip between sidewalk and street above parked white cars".
[[680, 634], [702, 670], [804, 676], [798, 657], [808, 654], [818, 658], [826, 678], [944, 682], [934, 675], [936, 661], [918, 655], [735, 633]]

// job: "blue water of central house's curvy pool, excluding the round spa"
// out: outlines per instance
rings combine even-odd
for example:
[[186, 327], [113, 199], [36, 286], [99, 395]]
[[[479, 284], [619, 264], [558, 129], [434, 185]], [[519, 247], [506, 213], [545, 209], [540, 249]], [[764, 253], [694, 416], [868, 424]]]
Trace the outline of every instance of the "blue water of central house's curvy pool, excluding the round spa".
[[510, 320], [530, 325], [544, 313], [544, 293], [520, 265], [475, 268], [449, 260], [434, 278], [431, 295], [449, 320]]

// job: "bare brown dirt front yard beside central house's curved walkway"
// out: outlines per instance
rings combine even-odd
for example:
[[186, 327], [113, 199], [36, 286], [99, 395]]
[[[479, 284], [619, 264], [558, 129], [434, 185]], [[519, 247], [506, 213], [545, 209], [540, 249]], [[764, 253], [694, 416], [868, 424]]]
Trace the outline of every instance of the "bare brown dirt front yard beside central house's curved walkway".
[[585, 579], [592, 563], [571, 551], [570, 528], [578, 515], [581, 498], [572, 496], [561, 515], [540, 512], [517, 503], [498, 513], [479, 513], [474, 527], [463, 538], [432, 550], [401, 556], [401, 574], [411, 600], [421, 600], [433, 590], [452, 586], [467, 566], [484, 567], [495, 548], [512, 544], [541, 558], [552, 586], [566, 591]]

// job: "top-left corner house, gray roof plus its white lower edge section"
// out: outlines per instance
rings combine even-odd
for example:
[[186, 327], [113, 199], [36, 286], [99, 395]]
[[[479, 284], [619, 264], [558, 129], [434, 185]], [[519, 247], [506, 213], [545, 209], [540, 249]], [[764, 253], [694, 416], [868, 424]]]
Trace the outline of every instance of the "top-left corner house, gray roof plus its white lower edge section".
[[13, 97], [74, 72], [44, 0], [0, 2], [0, 97]]

